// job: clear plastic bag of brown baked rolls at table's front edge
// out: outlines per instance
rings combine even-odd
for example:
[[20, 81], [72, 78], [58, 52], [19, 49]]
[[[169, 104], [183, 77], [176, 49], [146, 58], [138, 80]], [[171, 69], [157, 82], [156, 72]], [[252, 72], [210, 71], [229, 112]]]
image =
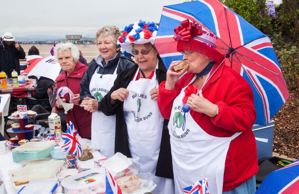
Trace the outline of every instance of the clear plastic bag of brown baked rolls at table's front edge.
[[143, 194], [153, 191], [157, 186], [153, 182], [152, 173], [138, 173], [136, 175], [125, 175], [116, 179], [116, 183], [124, 193]]

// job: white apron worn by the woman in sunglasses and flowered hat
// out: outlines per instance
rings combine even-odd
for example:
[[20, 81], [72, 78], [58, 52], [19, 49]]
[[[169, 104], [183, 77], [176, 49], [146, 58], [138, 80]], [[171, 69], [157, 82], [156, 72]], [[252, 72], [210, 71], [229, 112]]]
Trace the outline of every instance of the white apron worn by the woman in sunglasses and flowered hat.
[[[158, 65], [157, 65], [158, 67]], [[132, 157], [139, 157], [142, 173], [155, 175], [161, 145], [164, 118], [156, 100], [150, 98], [150, 90], [158, 88], [156, 72], [152, 79], [140, 78], [136, 81], [139, 68], [127, 87], [129, 96], [124, 101], [124, 115], [128, 131], [129, 148]], [[172, 179], [154, 176], [157, 187], [155, 194], [174, 193]]]

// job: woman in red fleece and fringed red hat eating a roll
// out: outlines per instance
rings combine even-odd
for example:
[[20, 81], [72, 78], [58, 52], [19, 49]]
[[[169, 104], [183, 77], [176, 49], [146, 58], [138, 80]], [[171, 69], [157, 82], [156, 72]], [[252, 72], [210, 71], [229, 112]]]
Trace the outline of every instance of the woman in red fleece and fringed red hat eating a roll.
[[178, 33], [188, 27], [174, 30], [177, 51], [188, 66], [170, 64], [157, 100], [162, 116], [170, 119], [175, 193], [205, 178], [211, 194], [254, 193], [258, 164], [252, 89], [224, 64], [215, 35], [195, 21], [181, 25], [193, 30], [188, 38]]

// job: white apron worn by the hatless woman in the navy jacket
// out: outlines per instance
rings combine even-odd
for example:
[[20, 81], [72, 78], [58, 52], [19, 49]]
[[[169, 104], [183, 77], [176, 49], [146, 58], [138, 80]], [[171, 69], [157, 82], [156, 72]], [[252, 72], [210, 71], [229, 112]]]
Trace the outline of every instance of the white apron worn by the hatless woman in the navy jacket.
[[[113, 74], [98, 74], [97, 69], [94, 72], [89, 83], [89, 91], [98, 102], [101, 101], [102, 98], [107, 95], [109, 90], [112, 88], [117, 77], [117, 67], [118, 64]], [[107, 158], [114, 155], [115, 120], [115, 115], [106, 116], [98, 110], [92, 114], [92, 147], [94, 149], [100, 149], [100, 153]]]

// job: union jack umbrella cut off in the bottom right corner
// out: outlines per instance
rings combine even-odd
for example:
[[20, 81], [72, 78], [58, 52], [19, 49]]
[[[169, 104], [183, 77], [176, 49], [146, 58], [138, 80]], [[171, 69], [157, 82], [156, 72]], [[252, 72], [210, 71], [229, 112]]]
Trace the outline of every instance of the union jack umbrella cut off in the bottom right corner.
[[299, 193], [299, 159], [270, 173], [255, 194], [295, 194]]

